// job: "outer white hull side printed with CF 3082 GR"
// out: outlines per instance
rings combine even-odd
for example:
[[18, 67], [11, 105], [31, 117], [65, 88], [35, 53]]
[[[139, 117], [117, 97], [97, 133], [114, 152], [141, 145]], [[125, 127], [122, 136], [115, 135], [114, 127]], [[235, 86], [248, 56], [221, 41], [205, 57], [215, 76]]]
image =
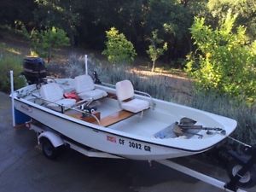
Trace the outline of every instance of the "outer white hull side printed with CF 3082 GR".
[[61, 117], [61, 113], [60, 116], [55, 116], [19, 101], [15, 101], [15, 108], [77, 143], [131, 160], [166, 160], [203, 152], [160, 146], [115, 135], [107, 130], [99, 131], [83, 125], [83, 122], [65, 119]]

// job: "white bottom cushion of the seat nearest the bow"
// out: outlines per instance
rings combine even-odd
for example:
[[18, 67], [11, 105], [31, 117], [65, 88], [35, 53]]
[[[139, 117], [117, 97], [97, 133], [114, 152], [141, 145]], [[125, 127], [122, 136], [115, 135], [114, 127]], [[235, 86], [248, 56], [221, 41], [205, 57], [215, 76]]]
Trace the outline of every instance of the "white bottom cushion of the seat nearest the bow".
[[133, 99], [130, 102], [122, 102], [121, 107], [126, 111], [130, 111], [132, 113], [138, 113], [145, 109], [149, 108], [149, 102], [140, 100], [140, 99]]

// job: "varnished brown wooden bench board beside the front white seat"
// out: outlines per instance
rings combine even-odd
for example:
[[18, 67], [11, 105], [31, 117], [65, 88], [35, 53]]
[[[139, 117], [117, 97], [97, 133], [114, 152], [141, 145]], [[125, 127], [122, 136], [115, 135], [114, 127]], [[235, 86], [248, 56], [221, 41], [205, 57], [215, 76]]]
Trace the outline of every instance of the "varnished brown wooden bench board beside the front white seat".
[[131, 113], [125, 110], [121, 110], [117, 113], [113, 113], [111, 115], [108, 115], [105, 118], [102, 118], [100, 120], [100, 125], [102, 126], [110, 126], [113, 125], [115, 123], [118, 123], [121, 120], [130, 118], [131, 116], [135, 115], [136, 113]]

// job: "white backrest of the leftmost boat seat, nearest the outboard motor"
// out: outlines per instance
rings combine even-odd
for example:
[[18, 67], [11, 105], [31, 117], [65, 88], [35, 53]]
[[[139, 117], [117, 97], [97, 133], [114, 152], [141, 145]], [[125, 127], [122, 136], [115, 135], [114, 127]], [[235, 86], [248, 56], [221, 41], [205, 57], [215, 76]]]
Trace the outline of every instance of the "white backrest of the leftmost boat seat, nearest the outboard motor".
[[56, 102], [63, 99], [63, 90], [60, 85], [56, 83], [43, 84], [40, 93], [43, 99], [49, 102]]

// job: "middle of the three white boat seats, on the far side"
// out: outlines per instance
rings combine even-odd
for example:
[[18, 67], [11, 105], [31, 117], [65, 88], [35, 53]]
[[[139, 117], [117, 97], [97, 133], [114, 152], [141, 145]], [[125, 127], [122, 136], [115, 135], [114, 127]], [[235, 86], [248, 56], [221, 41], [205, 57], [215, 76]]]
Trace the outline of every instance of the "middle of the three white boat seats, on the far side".
[[75, 90], [83, 100], [97, 100], [108, 96], [105, 90], [95, 89], [95, 84], [89, 75], [79, 75], [74, 79]]

